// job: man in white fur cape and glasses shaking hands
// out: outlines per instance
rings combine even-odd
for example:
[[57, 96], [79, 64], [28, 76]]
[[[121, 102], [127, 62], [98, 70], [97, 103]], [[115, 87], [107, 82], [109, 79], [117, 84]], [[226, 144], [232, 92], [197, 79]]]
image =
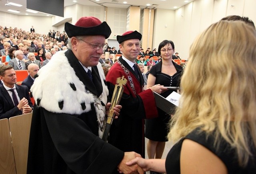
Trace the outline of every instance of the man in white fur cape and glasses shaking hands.
[[[108, 88], [100, 63], [111, 30], [94, 17], [65, 23], [70, 37], [38, 71], [31, 88], [36, 107], [32, 116], [28, 174], [111, 174], [137, 171], [125, 162], [139, 156], [120, 151], [101, 137], [105, 126]], [[119, 115], [121, 106], [115, 106]]]

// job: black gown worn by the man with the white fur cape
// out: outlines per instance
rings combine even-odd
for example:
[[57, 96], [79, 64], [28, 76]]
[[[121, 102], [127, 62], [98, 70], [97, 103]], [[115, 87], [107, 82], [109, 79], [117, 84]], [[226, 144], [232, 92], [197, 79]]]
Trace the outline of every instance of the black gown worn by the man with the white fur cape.
[[[99, 96], [102, 84], [97, 67], [92, 67], [92, 82], [72, 51], [66, 51], [65, 55], [79, 80]], [[39, 99], [35, 100], [38, 102]], [[94, 104], [91, 108], [80, 115], [53, 113], [38, 106], [34, 108], [28, 174], [110, 174], [116, 171], [124, 152], [98, 137]]]

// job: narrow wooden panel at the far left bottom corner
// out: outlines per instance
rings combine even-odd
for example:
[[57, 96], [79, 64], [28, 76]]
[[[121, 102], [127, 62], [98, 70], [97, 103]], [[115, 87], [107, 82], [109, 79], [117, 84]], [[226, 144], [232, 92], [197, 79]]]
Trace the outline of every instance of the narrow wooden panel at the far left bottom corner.
[[9, 121], [0, 119], [0, 174], [16, 174]]

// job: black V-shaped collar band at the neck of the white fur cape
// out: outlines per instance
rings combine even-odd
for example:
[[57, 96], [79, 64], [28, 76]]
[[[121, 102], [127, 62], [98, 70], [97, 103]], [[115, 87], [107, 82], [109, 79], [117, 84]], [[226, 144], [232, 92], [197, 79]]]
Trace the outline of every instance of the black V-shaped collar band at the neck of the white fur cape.
[[65, 56], [68, 58], [68, 62], [70, 63], [70, 66], [74, 69], [76, 76], [78, 76], [79, 80], [83, 82], [83, 84], [86, 86], [88, 90], [90, 90], [90, 92], [99, 97], [100, 94], [102, 94], [103, 89], [100, 76], [98, 74], [98, 68], [96, 66], [92, 67], [91, 80], [71, 50], [66, 51]]

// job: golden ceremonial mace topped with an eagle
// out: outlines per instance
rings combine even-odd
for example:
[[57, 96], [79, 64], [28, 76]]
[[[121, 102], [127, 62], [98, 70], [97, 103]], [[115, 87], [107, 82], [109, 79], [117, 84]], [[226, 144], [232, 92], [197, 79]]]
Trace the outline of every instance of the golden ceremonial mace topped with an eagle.
[[114, 106], [119, 104], [124, 92], [124, 85], [126, 84], [126, 82], [127, 80], [126, 78], [124, 78], [124, 76], [116, 78], [116, 85], [111, 99], [111, 106], [108, 111], [107, 123], [102, 137], [102, 140], [104, 141], [107, 141], [108, 139], [108, 133], [115, 116], [113, 108]]

